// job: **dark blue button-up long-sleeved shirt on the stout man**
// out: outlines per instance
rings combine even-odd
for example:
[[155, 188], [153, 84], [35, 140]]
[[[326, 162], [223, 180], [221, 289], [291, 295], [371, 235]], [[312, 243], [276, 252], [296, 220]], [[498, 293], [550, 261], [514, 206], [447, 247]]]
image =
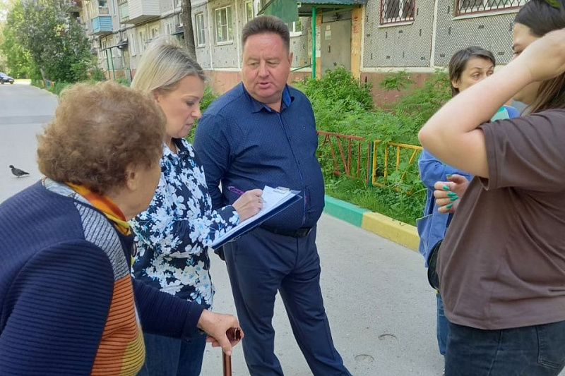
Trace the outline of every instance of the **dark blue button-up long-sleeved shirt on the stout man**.
[[[239, 195], [227, 189], [283, 186], [299, 190], [297, 202], [265, 224], [294, 230], [311, 227], [324, 205], [314, 112], [293, 87], [283, 92], [280, 112], [258, 102], [242, 83], [216, 99], [198, 121], [194, 149], [201, 159], [214, 209]], [[225, 189], [220, 191], [221, 186]]]

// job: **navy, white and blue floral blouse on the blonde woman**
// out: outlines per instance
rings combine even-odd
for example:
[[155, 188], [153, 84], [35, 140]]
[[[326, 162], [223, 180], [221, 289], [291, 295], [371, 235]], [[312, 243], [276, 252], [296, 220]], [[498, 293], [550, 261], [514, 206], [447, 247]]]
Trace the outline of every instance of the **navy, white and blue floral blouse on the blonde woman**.
[[211, 308], [208, 245], [237, 226], [232, 205], [212, 210], [206, 179], [192, 145], [175, 139], [177, 154], [163, 145], [161, 178], [145, 212], [131, 219], [137, 254], [133, 277], [161, 291]]

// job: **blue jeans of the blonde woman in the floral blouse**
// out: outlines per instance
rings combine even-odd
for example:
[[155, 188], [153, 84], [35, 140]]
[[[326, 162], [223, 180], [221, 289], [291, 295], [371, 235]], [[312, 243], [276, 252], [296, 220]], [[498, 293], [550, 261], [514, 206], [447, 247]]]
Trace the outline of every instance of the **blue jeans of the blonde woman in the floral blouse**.
[[137, 376], [198, 376], [206, 347], [206, 335], [189, 340], [143, 333], [145, 364]]

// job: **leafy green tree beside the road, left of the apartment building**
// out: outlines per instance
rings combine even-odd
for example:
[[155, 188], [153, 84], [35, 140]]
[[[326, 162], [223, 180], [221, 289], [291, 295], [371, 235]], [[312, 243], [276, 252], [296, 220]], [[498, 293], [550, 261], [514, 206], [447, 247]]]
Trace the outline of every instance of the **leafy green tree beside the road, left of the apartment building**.
[[85, 79], [93, 57], [75, 12], [71, 0], [17, 0], [1, 45], [11, 71], [59, 82]]

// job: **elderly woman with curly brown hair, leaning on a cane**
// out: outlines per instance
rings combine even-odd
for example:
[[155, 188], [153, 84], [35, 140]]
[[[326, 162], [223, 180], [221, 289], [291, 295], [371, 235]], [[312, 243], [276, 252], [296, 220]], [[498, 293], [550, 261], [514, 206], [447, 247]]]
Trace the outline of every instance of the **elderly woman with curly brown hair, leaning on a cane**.
[[39, 137], [45, 177], [0, 205], [0, 375], [136, 375], [143, 332], [198, 329], [231, 353], [239, 327], [132, 281], [128, 220], [159, 181], [165, 117], [116, 83], [64, 91]]

